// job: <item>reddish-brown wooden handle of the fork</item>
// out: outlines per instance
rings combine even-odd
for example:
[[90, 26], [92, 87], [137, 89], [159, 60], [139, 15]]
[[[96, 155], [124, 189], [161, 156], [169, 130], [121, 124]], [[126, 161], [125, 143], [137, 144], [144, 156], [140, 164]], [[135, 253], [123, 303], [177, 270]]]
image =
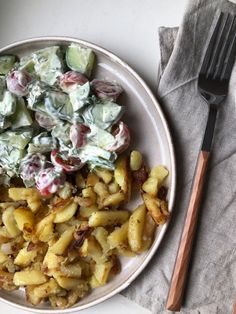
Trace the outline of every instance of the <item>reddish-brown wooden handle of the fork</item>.
[[208, 159], [209, 152], [200, 151], [193, 180], [189, 206], [185, 218], [183, 233], [180, 240], [180, 245], [175, 261], [175, 267], [166, 303], [166, 308], [171, 311], [180, 311], [182, 305], [183, 292], [189, 267], [191, 249], [197, 226], [197, 218]]

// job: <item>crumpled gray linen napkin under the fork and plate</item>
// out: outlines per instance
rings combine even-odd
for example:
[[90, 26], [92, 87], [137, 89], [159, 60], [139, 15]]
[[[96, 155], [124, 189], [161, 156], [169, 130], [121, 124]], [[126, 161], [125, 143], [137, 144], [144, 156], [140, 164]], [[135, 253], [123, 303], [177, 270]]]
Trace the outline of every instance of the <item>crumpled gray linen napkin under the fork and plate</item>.
[[[236, 13], [223, 0], [191, 0], [178, 29], [160, 28], [158, 98], [175, 145], [178, 182], [167, 234], [147, 269], [124, 295], [165, 311], [171, 274], [204, 134], [208, 108], [197, 92], [197, 75], [219, 10]], [[236, 67], [218, 115], [210, 171], [181, 313], [231, 314], [236, 295]]]

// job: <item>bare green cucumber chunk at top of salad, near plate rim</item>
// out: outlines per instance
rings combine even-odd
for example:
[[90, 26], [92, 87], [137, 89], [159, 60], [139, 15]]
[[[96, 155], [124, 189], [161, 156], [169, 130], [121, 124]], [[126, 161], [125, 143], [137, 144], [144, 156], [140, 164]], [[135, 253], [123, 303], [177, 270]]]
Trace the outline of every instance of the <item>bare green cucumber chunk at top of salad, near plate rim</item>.
[[73, 43], [66, 50], [66, 63], [68, 67], [88, 77], [93, 69], [94, 61], [95, 54], [90, 48], [83, 48]]

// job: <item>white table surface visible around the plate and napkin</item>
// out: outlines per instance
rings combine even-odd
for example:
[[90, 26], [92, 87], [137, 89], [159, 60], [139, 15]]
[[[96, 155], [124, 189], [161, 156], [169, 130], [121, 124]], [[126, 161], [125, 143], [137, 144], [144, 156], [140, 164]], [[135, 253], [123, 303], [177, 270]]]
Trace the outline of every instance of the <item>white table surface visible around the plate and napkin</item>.
[[[177, 26], [187, 0], [0, 0], [0, 47], [35, 36], [72, 36], [131, 65], [155, 92], [159, 26]], [[23, 314], [6, 304], [1, 313]], [[118, 295], [84, 314], [150, 314]]]

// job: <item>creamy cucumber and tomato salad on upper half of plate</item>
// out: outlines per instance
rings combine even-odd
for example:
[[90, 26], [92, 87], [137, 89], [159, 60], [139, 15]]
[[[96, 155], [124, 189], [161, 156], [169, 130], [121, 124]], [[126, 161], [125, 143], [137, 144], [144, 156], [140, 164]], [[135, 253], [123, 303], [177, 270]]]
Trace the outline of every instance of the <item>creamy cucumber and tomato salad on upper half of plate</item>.
[[0, 56], [0, 184], [18, 177], [47, 196], [85, 165], [114, 169], [130, 143], [122, 88], [91, 80], [94, 63], [75, 43]]

